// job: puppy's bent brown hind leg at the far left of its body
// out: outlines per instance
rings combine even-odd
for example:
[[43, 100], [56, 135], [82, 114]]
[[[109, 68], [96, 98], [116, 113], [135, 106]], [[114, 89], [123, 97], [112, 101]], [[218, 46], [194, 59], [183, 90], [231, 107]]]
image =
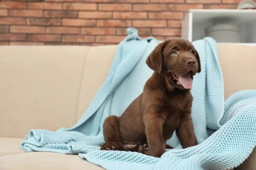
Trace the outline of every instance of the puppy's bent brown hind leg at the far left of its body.
[[103, 123], [105, 144], [100, 150], [124, 150], [124, 143], [119, 137], [119, 117], [108, 116]]

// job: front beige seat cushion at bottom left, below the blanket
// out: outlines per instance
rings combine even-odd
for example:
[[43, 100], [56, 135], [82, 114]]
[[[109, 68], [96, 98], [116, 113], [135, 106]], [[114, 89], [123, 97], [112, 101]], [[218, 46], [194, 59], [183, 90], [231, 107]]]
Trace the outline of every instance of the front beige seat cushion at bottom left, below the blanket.
[[102, 170], [78, 155], [29, 152], [0, 157], [0, 170]]

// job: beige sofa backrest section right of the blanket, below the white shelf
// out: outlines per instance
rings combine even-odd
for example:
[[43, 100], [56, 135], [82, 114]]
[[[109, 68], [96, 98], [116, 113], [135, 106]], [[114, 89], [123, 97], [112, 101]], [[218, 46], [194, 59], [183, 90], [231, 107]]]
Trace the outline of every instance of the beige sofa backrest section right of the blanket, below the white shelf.
[[225, 99], [242, 90], [256, 90], [256, 45], [218, 44]]

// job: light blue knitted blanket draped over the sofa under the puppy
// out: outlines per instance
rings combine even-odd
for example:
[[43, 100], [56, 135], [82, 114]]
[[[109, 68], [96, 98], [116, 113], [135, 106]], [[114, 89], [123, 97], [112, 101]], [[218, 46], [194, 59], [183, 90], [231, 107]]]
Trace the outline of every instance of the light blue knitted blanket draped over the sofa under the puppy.
[[175, 149], [161, 158], [100, 150], [104, 143], [104, 119], [112, 114], [120, 116], [143, 91], [153, 73], [145, 60], [159, 42], [154, 38], [140, 39], [136, 29], [128, 28], [128, 36], [117, 48], [106, 81], [79, 122], [71, 129], [56, 132], [31, 130], [21, 149], [79, 154], [108, 170], [222, 170], [241, 164], [256, 145], [256, 91], [238, 92], [224, 102], [217, 45], [211, 38], [193, 42], [202, 67], [191, 90], [192, 118], [199, 144], [181, 149], [174, 133], [168, 144]]

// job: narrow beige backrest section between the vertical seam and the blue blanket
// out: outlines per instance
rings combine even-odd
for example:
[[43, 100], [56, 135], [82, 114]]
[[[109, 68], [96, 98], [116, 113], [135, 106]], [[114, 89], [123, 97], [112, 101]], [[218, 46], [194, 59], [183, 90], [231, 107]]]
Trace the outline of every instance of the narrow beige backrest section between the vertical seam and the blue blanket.
[[105, 82], [116, 53], [116, 48], [117, 45], [104, 45], [92, 47], [88, 51], [81, 79], [81, 89], [77, 106], [77, 122], [89, 107], [99, 88]]

